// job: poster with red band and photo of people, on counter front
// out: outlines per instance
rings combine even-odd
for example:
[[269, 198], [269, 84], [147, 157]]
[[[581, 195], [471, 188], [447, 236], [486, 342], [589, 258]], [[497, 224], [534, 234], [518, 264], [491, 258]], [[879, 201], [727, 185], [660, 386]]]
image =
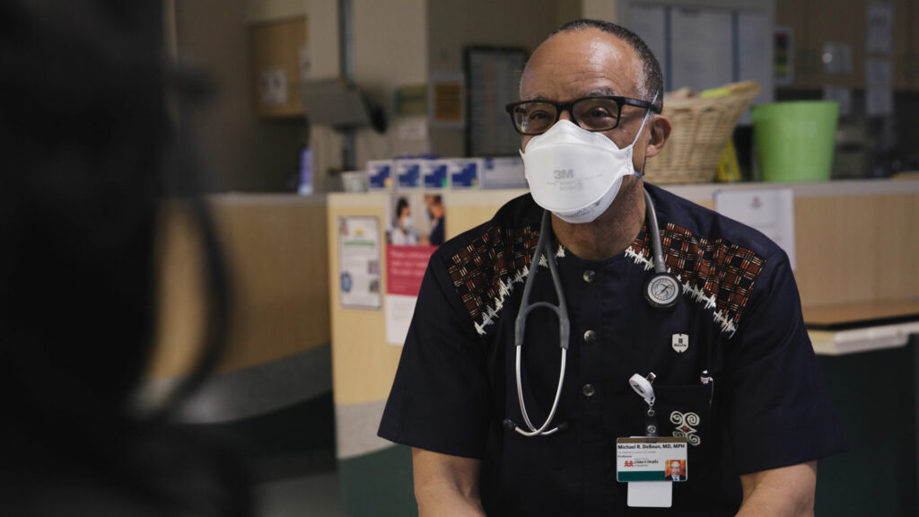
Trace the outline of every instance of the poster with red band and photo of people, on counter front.
[[396, 191], [386, 230], [386, 342], [402, 346], [414, 315], [427, 261], [444, 242], [440, 192]]

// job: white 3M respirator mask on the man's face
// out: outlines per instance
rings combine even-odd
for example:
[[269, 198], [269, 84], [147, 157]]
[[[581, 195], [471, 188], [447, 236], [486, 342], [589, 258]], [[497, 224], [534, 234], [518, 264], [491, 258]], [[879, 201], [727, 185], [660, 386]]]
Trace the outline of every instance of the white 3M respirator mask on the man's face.
[[637, 174], [632, 149], [649, 114], [635, 140], [622, 149], [602, 132], [589, 132], [566, 120], [534, 136], [527, 151], [520, 151], [533, 200], [566, 223], [593, 222], [616, 198], [622, 178]]

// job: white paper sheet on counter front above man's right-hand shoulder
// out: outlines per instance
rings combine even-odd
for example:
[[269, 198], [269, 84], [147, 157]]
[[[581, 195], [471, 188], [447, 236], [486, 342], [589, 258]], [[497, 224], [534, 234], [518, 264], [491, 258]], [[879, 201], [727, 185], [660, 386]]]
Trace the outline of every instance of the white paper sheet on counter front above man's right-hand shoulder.
[[789, 256], [795, 269], [795, 198], [791, 189], [719, 190], [715, 210], [752, 226], [773, 240]]

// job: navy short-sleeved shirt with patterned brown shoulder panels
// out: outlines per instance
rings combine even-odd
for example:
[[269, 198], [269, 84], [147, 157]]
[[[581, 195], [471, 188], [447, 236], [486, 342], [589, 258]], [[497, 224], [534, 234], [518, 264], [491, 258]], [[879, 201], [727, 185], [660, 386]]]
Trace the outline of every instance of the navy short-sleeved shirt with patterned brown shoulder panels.
[[[514, 324], [542, 214], [525, 195], [432, 256], [380, 436], [481, 459], [482, 504], [493, 517], [732, 515], [739, 475], [843, 450], [785, 253], [743, 224], [646, 188], [665, 261], [684, 291], [669, 311], [644, 300], [652, 247], [643, 228], [611, 259], [557, 247], [571, 346], [553, 421], [567, 429], [528, 438], [502, 425], [524, 427]], [[537, 301], [558, 302], [545, 266]], [[560, 356], [557, 318], [530, 313], [522, 371], [537, 427], [551, 408]], [[705, 370], [712, 384], [700, 382]], [[687, 480], [675, 483], [673, 508], [664, 510], [628, 508], [627, 484], [616, 481], [616, 439], [644, 435], [646, 424], [647, 405], [629, 378], [651, 372], [660, 435], [689, 443]]]

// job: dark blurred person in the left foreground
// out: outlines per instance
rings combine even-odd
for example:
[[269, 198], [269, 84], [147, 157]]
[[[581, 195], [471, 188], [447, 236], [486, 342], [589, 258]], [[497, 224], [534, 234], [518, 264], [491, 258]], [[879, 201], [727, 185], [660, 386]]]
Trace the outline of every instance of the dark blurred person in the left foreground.
[[250, 513], [236, 456], [169, 419], [225, 332], [223, 270], [198, 198], [209, 293], [199, 362], [162, 407], [132, 402], [154, 343], [159, 201], [165, 188], [194, 190], [187, 168], [166, 166], [182, 162], [170, 159], [165, 109], [181, 81], [164, 66], [162, 8], [0, 5], [3, 515]]

